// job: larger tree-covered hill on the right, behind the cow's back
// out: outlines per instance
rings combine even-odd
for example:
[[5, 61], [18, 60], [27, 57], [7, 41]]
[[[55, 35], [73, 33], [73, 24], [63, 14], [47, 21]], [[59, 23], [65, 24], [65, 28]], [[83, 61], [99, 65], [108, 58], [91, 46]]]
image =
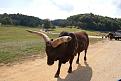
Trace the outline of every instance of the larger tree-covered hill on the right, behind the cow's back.
[[121, 29], [121, 19], [94, 15], [92, 13], [73, 15], [66, 20], [54, 20], [53, 23], [58, 26], [75, 26], [81, 29], [97, 31]]

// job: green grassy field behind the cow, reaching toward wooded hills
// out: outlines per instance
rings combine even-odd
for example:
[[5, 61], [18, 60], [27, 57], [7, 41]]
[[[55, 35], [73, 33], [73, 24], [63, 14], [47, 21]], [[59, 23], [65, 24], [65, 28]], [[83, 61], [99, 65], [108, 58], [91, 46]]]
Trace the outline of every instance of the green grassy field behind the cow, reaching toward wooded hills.
[[[45, 44], [41, 37], [25, 31], [26, 29], [40, 30], [30, 27], [0, 27], [0, 63], [18, 62], [30, 56], [45, 56]], [[84, 31], [75, 28], [57, 28], [55, 33], [61, 31]], [[86, 31], [89, 35], [99, 35], [100, 32]], [[48, 34], [50, 38], [56, 38], [58, 35]], [[101, 39], [90, 39], [91, 43]]]

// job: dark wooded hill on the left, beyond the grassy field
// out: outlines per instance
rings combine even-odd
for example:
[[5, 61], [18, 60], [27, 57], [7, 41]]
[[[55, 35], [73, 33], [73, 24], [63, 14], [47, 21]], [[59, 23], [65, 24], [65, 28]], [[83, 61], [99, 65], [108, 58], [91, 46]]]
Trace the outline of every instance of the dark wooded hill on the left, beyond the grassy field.
[[36, 27], [42, 25], [43, 20], [34, 16], [27, 16], [23, 14], [0, 14], [0, 23], [3, 25], [21, 25]]

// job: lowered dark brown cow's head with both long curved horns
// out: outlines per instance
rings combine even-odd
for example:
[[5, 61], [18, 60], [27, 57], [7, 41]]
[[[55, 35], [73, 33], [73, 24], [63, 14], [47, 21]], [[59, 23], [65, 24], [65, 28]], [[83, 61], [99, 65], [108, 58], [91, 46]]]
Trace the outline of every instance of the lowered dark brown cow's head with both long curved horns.
[[48, 65], [54, 64], [54, 61], [58, 59], [57, 51], [59, 49], [64, 50], [63, 44], [69, 42], [72, 39], [70, 36], [61, 36], [54, 40], [50, 40], [50, 38], [43, 32], [32, 31], [32, 30], [27, 30], [27, 31], [43, 37], [46, 44], [46, 54], [47, 54]]

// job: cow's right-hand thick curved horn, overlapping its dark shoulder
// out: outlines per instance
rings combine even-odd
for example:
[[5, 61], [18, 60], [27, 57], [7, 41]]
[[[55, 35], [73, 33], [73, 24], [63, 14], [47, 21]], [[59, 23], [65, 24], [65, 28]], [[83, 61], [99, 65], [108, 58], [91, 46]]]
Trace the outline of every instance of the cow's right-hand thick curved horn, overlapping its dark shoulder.
[[71, 39], [72, 38], [70, 36], [62, 36], [62, 37], [59, 37], [59, 38], [56, 38], [55, 40], [53, 40], [53, 42], [51, 44], [52, 44], [52, 47], [55, 48], [62, 43], [69, 42]]

